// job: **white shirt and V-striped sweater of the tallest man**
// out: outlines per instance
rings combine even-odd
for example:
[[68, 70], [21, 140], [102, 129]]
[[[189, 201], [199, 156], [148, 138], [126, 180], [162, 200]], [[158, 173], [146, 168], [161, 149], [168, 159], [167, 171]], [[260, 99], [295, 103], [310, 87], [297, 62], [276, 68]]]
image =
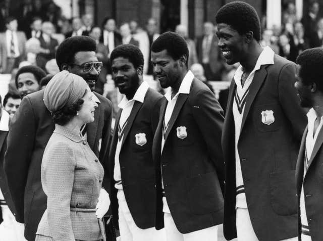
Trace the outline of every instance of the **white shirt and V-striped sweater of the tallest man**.
[[[261, 65], [274, 64], [274, 54], [275, 54], [274, 51], [270, 47], [266, 46], [263, 48], [263, 51], [260, 53], [254, 69], [247, 77], [243, 86], [241, 84], [241, 77], [243, 74], [243, 69], [241, 65], [238, 67], [234, 75], [234, 81], [237, 85], [236, 94], [238, 95], [238, 100], [240, 103], [238, 108], [237, 102], [234, 100], [233, 106], [232, 106], [232, 112], [233, 112], [234, 124], [235, 124], [236, 187], [240, 187], [238, 190], [243, 190], [242, 193], [236, 196], [236, 208], [247, 208], [246, 195], [244, 192], [244, 182], [243, 182], [241, 164], [240, 164], [240, 156], [238, 153], [238, 141], [240, 137], [245, 103], [247, 100], [249, 87], [250, 87], [250, 84], [252, 83], [255, 72], [260, 69]], [[241, 113], [239, 112], [239, 109]]]

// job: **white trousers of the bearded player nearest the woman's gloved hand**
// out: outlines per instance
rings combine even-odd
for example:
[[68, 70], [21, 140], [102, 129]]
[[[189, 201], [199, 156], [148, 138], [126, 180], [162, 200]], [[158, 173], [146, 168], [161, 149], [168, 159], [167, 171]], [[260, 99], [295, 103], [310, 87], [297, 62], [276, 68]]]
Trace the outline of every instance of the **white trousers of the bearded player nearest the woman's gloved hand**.
[[129, 211], [123, 190], [118, 190], [119, 230], [121, 241], [166, 241], [165, 230], [137, 227]]

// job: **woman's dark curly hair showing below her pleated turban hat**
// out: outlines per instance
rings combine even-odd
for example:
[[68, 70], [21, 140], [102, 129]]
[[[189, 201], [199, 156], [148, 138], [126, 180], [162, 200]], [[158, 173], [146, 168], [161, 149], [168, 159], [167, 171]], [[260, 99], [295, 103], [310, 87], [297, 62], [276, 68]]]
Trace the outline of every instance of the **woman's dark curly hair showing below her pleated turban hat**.
[[66, 125], [81, 110], [84, 100], [78, 99], [72, 105], [64, 106], [62, 109], [51, 113], [52, 120], [55, 124]]

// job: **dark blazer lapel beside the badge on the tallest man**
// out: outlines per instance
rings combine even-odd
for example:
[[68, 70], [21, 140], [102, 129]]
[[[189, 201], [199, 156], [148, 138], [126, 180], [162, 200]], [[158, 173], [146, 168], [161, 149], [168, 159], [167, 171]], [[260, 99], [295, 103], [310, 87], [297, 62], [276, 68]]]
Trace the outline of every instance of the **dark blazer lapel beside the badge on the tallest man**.
[[252, 102], [253, 102], [254, 98], [256, 97], [256, 95], [262, 85], [262, 82], [264, 81], [264, 79], [267, 76], [267, 71], [266, 71], [265, 67], [266, 66], [261, 66], [260, 69], [257, 70], [253, 76], [253, 80], [252, 80], [252, 83], [250, 84], [250, 89], [249, 89], [249, 93], [247, 95], [247, 101], [246, 101], [246, 105], [245, 105], [244, 112], [243, 112], [240, 133], [243, 129], [244, 123], [245, 123], [248, 113], [250, 111], [250, 107], [252, 105]]

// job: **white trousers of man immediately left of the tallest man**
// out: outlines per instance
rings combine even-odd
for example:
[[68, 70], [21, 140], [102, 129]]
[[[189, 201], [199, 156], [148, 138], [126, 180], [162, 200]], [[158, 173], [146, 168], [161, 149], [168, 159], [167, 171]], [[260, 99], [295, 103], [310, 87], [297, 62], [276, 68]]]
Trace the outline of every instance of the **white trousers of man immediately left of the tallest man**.
[[164, 213], [167, 241], [218, 241], [218, 226], [212, 226], [189, 233], [178, 231], [170, 213]]

